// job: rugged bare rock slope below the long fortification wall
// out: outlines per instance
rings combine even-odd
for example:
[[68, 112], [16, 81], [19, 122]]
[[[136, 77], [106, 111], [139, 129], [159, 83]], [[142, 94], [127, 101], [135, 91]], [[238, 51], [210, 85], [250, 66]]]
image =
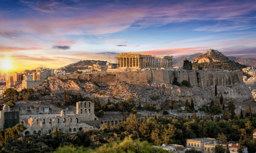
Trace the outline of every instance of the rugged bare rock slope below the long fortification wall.
[[[206, 77], [206, 73], [207, 72], [205, 72], [205, 74], [200, 73], [200, 75], [202, 75], [202, 77]], [[106, 77], [108, 75], [104, 76]], [[111, 76], [111, 80], [113, 80], [114, 75], [111, 74]], [[134, 77], [136, 76], [134, 75]], [[232, 80], [233, 78], [230, 79]], [[163, 83], [159, 80], [153, 80], [150, 83], [142, 82], [141, 84], [137, 82], [124, 81], [116, 83], [112, 81], [113, 83], [111, 84], [106, 82], [100, 83], [99, 80], [103, 81], [104, 78], [100, 78], [99, 76], [97, 80], [98, 82], [95, 82], [95, 80], [92, 79], [52, 79], [45, 82], [44, 85], [38, 87], [38, 89], [49, 89], [52, 93], [59, 93], [60, 95], [63, 94], [64, 90], [72, 95], [77, 95], [77, 93], [80, 92], [83, 97], [98, 97], [102, 104], [106, 104], [108, 101], [116, 104], [119, 101], [130, 98], [131, 96], [135, 101], [138, 101], [138, 98], [140, 97], [141, 105], [153, 104], [158, 108], [168, 108], [168, 101], [170, 99], [175, 102], [176, 107], [178, 107], [178, 105], [183, 106], [185, 100], [190, 99], [191, 97], [194, 99], [195, 105], [201, 107], [202, 105], [210, 103], [211, 98], [214, 98], [219, 102], [221, 93], [226, 101], [228, 101], [229, 98], [232, 98], [233, 101], [243, 102], [251, 100], [252, 97], [250, 89], [243, 82], [236, 81], [229, 85], [222, 86], [222, 84], [218, 84], [218, 96], [216, 97], [214, 95], [214, 83], [210, 83], [212, 78], [209, 78], [208, 83], [206, 83], [208, 86], [205, 86], [204, 88], [196, 86], [192, 88], [179, 87], [170, 83]], [[196, 79], [194, 82], [196, 82]], [[233, 90], [233, 96], [229, 95], [230, 90]]]

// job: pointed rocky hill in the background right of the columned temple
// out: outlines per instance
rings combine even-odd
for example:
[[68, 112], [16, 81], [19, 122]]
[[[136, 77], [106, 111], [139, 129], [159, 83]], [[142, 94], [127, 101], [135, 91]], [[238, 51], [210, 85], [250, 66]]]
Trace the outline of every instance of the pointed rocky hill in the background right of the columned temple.
[[210, 49], [206, 54], [198, 56], [193, 61], [194, 68], [221, 68], [228, 70], [241, 70], [245, 65], [231, 61], [218, 50]]

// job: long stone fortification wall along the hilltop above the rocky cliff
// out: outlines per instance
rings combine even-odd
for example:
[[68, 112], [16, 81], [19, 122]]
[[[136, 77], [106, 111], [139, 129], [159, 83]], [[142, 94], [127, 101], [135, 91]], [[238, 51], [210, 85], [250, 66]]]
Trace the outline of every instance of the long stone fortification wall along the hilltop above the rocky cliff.
[[242, 71], [172, 71], [172, 70], [144, 70], [144, 71], [129, 71], [129, 72], [106, 72], [106, 73], [90, 73], [90, 74], [70, 74], [58, 75], [49, 79], [81, 79], [91, 81], [103, 86], [115, 85], [118, 83], [127, 84], [151, 84], [165, 83], [172, 84], [174, 79], [178, 82], [186, 80], [191, 86], [210, 87], [212, 85], [233, 85], [234, 83], [243, 83]]

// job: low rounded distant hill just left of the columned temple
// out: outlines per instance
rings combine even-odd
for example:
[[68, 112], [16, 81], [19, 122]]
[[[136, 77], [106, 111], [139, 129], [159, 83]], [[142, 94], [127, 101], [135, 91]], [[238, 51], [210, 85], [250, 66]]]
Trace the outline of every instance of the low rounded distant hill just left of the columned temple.
[[84, 60], [84, 61], [79, 61], [76, 63], [69, 64], [69, 65], [61, 67], [59, 69], [66, 69], [66, 70], [73, 72], [78, 69], [87, 69], [88, 66], [92, 66], [93, 64], [106, 65], [106, 61]]

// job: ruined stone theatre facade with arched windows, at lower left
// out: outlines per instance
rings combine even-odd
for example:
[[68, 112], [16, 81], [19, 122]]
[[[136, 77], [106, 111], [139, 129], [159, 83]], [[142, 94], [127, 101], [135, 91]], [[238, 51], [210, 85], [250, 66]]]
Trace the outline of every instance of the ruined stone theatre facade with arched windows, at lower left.
[[[4, 105], [0, 116], [0, 128], [4, 130], [4, 112], [10, 112]], [[56, 128], [64, 133], [96, 129], [100, 120], [94, 115], [94, 103], [79, 101], [76, 103], [76, 113], [62, 110], [60, 114], [20, 115], [20, 123], [27, 127], [23, 134], [50, 134]]]

